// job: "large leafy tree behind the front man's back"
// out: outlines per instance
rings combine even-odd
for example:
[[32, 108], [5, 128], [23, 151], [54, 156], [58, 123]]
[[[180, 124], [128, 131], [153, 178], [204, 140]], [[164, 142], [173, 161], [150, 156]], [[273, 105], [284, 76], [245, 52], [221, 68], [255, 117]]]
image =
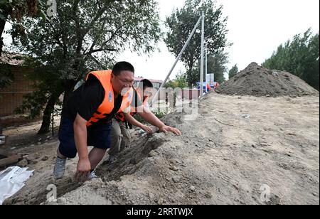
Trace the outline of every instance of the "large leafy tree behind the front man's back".
[[57, 0], [57, 6], [57, 16], [26, 19], [26, 31], [18, 35], [18, 49], [37, 60], [31, 64], [38, 92], [21, 110], [33, 109], [35, 116], [45, 106], [39, 134], [48, 132], [60, 94], [67, 100], [90, 70], [110, 68], [123, 50], [153, 51], [161, 36], [154, 0]]

